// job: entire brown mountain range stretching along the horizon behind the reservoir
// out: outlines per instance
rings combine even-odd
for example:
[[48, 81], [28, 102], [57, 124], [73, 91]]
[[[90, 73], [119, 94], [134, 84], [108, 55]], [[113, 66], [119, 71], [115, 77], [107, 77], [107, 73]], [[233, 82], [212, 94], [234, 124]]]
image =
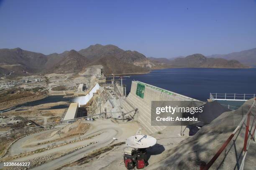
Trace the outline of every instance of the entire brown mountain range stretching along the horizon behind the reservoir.
[[0, 76], [13, 72], [13, 76], [45, 73], [74, 73], [92, 65], [102, 65], [105, 74], [146, 73], [151, 69], [170, 67], [247, 67], [237, 60], [208, 58], [201, 54], [166, 58], [146, 57], [137, 51], [122, 50], [115, 45], [91, 45], [76, 51], [44, 55], [38, 52], [0, 49]]

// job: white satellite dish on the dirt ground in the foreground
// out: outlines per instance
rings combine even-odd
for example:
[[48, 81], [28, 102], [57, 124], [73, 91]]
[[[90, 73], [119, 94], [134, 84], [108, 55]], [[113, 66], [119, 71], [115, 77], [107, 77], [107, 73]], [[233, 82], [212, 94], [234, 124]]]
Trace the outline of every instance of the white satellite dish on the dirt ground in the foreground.
[[149, 148], [156, 144], [156, 138], [149, 135], [142, 135], [141, 128], [139, 128], [134, 136], [131, 136], [125, 140], [125, 143], [132, 148]]

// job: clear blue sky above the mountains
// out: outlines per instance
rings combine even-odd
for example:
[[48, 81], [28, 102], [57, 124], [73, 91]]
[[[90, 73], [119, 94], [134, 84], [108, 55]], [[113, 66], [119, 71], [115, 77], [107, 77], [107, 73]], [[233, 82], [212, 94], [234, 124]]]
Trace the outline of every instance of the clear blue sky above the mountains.
[[256, 0], [0, 0], [0, 48], [113, 44], [147, 57], [256, 47]]

